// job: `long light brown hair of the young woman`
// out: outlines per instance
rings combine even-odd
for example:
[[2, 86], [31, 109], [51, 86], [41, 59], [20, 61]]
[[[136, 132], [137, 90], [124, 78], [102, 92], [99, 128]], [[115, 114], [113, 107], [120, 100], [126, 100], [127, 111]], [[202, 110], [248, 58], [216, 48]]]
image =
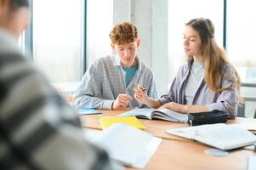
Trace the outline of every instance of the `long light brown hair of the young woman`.
[[[225, 54], [225, 49], [219, 48], [217, 42], [214, 39], [214, 26], [211, 20], [197, 18], [192, 19], [185, 24], [191, 26], [195, 31], [199, 33], [202, 41], [202, 56], [204, 63], [205, 76], [204, 81], [208, 84], [208, 87], [213, 92], [220, 93], [230, 87], [220, 88], [219, 77], [224, 76], [224, 65], [230, 65], [236, 74], [236, 87], [240, 94], [241, 78], [239, 77], [235, 67], [230, 63], [230, 60]], [[242, 98], [239, 98], [239, 103], [242, 104]]]

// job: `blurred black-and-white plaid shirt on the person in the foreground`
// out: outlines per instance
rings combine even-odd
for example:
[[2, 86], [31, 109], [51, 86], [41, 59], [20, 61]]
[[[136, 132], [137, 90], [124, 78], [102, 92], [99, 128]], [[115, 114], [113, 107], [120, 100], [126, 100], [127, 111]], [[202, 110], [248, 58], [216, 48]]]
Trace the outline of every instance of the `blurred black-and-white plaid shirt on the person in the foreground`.
[[112, 169], [70, 105], [0, 28], [0, 169]]

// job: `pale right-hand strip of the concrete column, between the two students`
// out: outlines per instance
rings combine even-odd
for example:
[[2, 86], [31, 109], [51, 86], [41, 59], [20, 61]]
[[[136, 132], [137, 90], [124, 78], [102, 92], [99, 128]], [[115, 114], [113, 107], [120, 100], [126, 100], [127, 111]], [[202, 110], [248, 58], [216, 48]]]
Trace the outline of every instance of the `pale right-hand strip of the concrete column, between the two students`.
[[168, 93], [168, 0], [152, 0], [151, 68], [158, 94]]

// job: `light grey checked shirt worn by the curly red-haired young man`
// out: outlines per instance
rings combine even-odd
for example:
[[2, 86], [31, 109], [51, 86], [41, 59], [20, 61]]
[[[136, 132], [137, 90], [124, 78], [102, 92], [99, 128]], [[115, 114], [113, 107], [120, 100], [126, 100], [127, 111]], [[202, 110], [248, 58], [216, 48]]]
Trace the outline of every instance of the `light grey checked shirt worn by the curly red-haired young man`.
[[[138, 59], [138, 58], [137, 58]], [[139, 61], [139, 59], [138, 59]], [[95, 108], [111, 110], [111, 105], [119, 94], [134, 96], [134, 87], [147, 88], [147, 95], [157, 98], [156, 83], [151, 69], [139, 61], [138, 70], [126, 87], [125, 71], [117, 55], [97, 59], [86, 71], [77, 92], [74, 105], [77, 108]], [[145, 107], [136, 99], [130, 101], [132, 107]]]

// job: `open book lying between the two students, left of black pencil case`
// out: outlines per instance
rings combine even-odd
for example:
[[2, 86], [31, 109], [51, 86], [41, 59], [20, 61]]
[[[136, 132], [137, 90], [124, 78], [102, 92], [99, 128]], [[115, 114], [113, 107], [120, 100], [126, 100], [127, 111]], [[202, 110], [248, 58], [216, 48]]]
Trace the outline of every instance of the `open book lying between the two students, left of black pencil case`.
[[145, 119], [161, 119], [170, 122], [187, 122], [187, 114], [182, 114], [169, 109], [134, 109], [122, 113], [119, 116], [136, 116]]

